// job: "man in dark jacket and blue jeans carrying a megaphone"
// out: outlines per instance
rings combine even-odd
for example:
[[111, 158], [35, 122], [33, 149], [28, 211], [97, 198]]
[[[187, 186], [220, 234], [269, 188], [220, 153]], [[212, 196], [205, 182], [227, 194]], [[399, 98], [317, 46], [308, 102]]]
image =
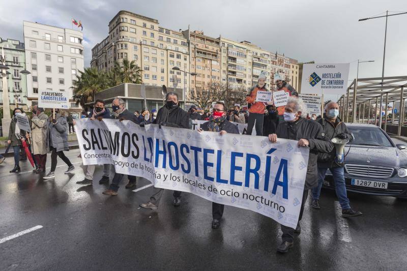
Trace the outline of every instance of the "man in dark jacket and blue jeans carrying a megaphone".
[[[325, 116], [318, 118], [317, 122], [322, 125], [325, 135], [332, 139], [337, 137], [339, 139], [353, 140], [351, 133], [347, 130], [345, 123], [342, 123], [338, 118], [339, 106], [335, 102], [330, 102], [325, 106]], [[336, 196], [339, 199], [340, 206], [342, 207], [342, 217], [356, 217], [362, 215], [361, 212], [356, 212], [351, 208], [349, 199], [346, 195], [345, 177], [343, 172], [343, 164], [335, 162], [336, 149], [330, 153], [321, 153], [318, 155], [318, 186], [312, 188], [312, 204], [315, 209], [321, 208], [319, 206], [319, 195], [321, 194], [322, 184], [324, 182], [327, 170], [332, 173], [335, 183]]]

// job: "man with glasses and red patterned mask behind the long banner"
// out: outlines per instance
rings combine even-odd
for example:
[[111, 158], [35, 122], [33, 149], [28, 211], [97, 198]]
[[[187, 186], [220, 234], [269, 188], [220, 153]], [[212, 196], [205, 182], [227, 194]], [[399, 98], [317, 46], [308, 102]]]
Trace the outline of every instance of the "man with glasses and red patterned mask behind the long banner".
[[[198, 131], [212, 131], [224, 134], [239, 134], [239, 129], [236, 125], [226, 120], [227, 108], [222, 102], [216, 102], [213, 106], [213, 114], [209, 117], [209, 122], [200, 126]], [[212, 202], [212, 228], [217, 229], [220, 226], [220, 219], [223, 216], [224, 204]]]

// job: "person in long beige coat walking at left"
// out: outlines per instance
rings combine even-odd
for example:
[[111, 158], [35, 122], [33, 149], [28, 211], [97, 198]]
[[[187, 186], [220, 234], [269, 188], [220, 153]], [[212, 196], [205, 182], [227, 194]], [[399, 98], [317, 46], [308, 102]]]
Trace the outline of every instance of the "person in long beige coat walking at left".
[[35, 105], [33, 107], [33, 118], [31, 119], [31, 147], [34, 159], [38, 164], [36, 173], [45, 172], [45, 163], [47, 162], [47, 127], [48, 116], [44, 113], [44, 108], [39, 108]]

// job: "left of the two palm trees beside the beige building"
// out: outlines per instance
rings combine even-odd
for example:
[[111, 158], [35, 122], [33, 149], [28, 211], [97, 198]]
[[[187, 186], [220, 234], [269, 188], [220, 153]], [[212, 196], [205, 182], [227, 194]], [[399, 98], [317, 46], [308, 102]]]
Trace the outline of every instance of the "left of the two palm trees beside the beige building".
[[110, 82], [105, 72], [99, 72], [96, 68], [85, 68], [79, 71], [76, 75], [76, 80], [73, 81], [73, 93], [79, 98], [77, 104], [83, 108], [87, 107], [85, 104], [92, 102], [95, 93], [110, 87]]

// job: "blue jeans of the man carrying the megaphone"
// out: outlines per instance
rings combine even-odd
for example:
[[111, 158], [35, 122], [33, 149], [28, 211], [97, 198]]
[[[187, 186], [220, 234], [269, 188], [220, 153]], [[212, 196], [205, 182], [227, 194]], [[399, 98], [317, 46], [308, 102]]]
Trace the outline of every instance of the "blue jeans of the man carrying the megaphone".
[[[318, 167], [318, 186], [312, 189], [312, 199], [319, 199], [321, 188], [324, 182], [325, 174], [328, 168]], [[342, 210], [350, 209], [349, 199], [346, 195], [345, 177], [343, 175], [343, 167], [332, 167], [329, 169], [332, 173], [335, 183], [336, 196], [339, 199]]]

